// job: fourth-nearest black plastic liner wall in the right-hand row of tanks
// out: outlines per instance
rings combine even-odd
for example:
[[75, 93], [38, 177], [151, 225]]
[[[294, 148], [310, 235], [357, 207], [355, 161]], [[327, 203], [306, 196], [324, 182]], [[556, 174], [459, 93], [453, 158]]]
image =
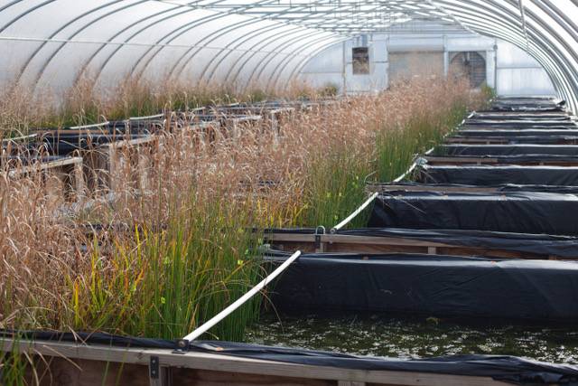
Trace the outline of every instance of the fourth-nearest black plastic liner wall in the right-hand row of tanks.
[[433, 155], [578, 155], [574, 145], [443, 145]]

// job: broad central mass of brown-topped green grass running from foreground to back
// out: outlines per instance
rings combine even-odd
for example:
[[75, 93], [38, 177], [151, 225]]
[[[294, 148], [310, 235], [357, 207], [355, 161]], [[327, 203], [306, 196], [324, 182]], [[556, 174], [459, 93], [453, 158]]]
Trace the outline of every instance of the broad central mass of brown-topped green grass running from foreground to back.
[[[121, 98], [122, 108], [111, 102], [119, 109], [107, 118], [149, 111], [150, 91], [135, 93]], [[331, 228], [365, 200], [365, 181], [400, 174], [453, 127], [464, 100], [471, 94], [458, 84], [412, 83], [301, 111], [284, 120], [281, 137], [267, 122], [242, 127], [239, 137], [167, 131], [144, 154], [146, 189], [125, 184], [112, 202], [96, 193], [90, 207], [68, 216], [46, 184], [50, 175], [3, 177], [0, 327], [187, 334], [264, 275], [259, 238], [247, 229]], [[79, 120], [101, 111], [79, 105], [62, 117], [79, 108]], [[52, 117], [46, 111], [23, 121]], [[126, 164], [120, 176], [142, 172]], [[102, 230], [87, 232], [89, 223]], [[241, 339], [260, 301], [210, 336]]]

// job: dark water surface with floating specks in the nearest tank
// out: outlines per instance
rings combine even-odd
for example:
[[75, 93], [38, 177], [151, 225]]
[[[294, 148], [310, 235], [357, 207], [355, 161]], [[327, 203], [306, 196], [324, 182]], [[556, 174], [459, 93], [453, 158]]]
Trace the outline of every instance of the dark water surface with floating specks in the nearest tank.
[[383, 315], [263, 315], [246, 342], [401, 358], [486, 353], [578, 362], [575, 326], [458, 323]]

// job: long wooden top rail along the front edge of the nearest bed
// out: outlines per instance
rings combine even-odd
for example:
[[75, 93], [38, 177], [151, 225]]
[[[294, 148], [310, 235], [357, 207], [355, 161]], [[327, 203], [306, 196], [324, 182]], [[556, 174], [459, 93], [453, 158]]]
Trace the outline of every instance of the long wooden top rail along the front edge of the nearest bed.
[[[275, 375], [313, 380], [332, 380], [372, 383], [377, 385], [407, 386], [506, 386], [508, 383], [494, 381], [489, 377], [462, 376], [426, 372], [368, 371], [342, 369], [328, 366], [303, 365], [288, 362], [274, 362], [251, 358], [241, 358], [214, 353], [172, 353], [172, 350], [121, 348], [100, 344], [73, 344], [49, 341], [14, 342], [0, 338], [0, 351], [41, 354], [43, 356], [82, 359], [99, 362], [133, 363], [149, 366], [151, 356], [158, 357], [160, 366], [208, 370], [213, 372], [233, 372], [243, 374]], [[71, 364], [72, 365], [72, 364]], [[347, 384], [347, 383], [345, 383]], [[350, 383], [351, 384], [351, 383]], [[352, 383], [359, 384], [359, 383]]]

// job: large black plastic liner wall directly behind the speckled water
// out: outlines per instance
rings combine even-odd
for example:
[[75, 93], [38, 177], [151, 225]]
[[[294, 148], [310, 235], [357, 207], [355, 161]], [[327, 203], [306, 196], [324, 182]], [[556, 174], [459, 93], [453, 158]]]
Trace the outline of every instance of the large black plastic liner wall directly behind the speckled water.
[[[269, 258], [282, 263], [286, 257]], [[578, 321], [578, 263], [422, 254], [307, 254], [275, 282], [284, 312]]]

